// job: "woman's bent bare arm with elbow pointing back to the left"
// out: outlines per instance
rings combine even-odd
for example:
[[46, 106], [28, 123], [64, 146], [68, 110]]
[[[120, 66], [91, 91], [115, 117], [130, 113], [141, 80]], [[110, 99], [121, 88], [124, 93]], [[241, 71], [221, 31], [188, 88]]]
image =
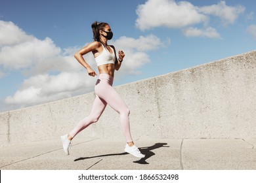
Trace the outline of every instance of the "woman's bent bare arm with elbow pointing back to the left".
[[76, 52], [74, 55], [75, 59], [77, 59], [77, 61], [79, 63], [81, 63], [81, 65], [83, 65], [83, 67], [85, 67], [85, 69], [87, 69], [89, 76], [96, 76], [96, 73], [95, 73], [95, 71], [93, 71], [93, 69], [91, 69], [91, 66], [85, 61], [85, 59], [83, 58], [83, 55], [88, 54], [89, 52], [98, 51], [99, 47], [100, 47], [99, 42], [96, 42], [96, 41], [91, 42], [91, 43], [87, 44], [87, 46], [81, 48], [81, 50]]

